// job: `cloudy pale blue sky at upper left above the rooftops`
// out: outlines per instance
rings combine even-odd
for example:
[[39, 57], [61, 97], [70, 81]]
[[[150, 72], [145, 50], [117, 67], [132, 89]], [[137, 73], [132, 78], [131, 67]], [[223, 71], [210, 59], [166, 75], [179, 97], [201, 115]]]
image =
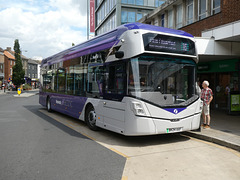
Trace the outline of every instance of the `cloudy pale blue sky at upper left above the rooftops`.
[[41, 59], [87, 40], [87, 0], [0, 0], [0, 47]]

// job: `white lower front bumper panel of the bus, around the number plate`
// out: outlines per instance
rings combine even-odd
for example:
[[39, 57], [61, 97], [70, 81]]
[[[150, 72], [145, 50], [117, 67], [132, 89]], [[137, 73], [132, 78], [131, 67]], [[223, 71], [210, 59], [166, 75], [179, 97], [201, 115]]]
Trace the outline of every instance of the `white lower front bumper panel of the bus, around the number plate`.
[[126, 104], [125, 135], [165, 134], [170, 133], [168, 130], [173, 128], [178, 129], [177, 132], [181, 132], [198, 129], [200, 126], [202, 109], [200, 99], [177, 114], [137, 100], [142, 103], [146, 115], [150, 114], [150, 117], [135, 116], [130, 107], [130, 104], [135, 101], [135, 99], [129, 99]]

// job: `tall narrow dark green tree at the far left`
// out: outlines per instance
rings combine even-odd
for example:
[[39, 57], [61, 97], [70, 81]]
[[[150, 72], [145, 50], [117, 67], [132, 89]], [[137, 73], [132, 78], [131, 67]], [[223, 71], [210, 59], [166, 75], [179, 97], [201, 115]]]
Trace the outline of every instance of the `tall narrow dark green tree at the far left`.
[[15, 39], [14, 42], [14, 51], [15, 51], [15, 66], [13, 66], [13, 75], [12, 82], [19, 87], [24, 83], [25, 71], [22, 65], [21, 50], [18, 39]]

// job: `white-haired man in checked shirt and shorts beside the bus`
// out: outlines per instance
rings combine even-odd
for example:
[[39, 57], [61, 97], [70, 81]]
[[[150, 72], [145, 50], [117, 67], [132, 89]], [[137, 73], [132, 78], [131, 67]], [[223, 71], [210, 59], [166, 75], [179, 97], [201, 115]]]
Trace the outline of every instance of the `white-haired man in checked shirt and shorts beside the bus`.
[[203, 89], [201, 91], [201, 99], [203, 101], [203, 128], [210, 128], [210, 103], [213, 100], [213, 92], [208, 86], [209, 82], [203, 81]]

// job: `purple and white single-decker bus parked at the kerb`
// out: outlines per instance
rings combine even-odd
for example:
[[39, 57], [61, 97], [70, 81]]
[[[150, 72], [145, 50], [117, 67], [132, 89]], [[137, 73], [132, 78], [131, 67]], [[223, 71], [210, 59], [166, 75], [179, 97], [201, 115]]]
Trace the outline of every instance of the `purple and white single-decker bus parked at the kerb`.
[[127, 136], [198, 129], [192, 35], [131, 23], [48, 57], [39, 103]]

